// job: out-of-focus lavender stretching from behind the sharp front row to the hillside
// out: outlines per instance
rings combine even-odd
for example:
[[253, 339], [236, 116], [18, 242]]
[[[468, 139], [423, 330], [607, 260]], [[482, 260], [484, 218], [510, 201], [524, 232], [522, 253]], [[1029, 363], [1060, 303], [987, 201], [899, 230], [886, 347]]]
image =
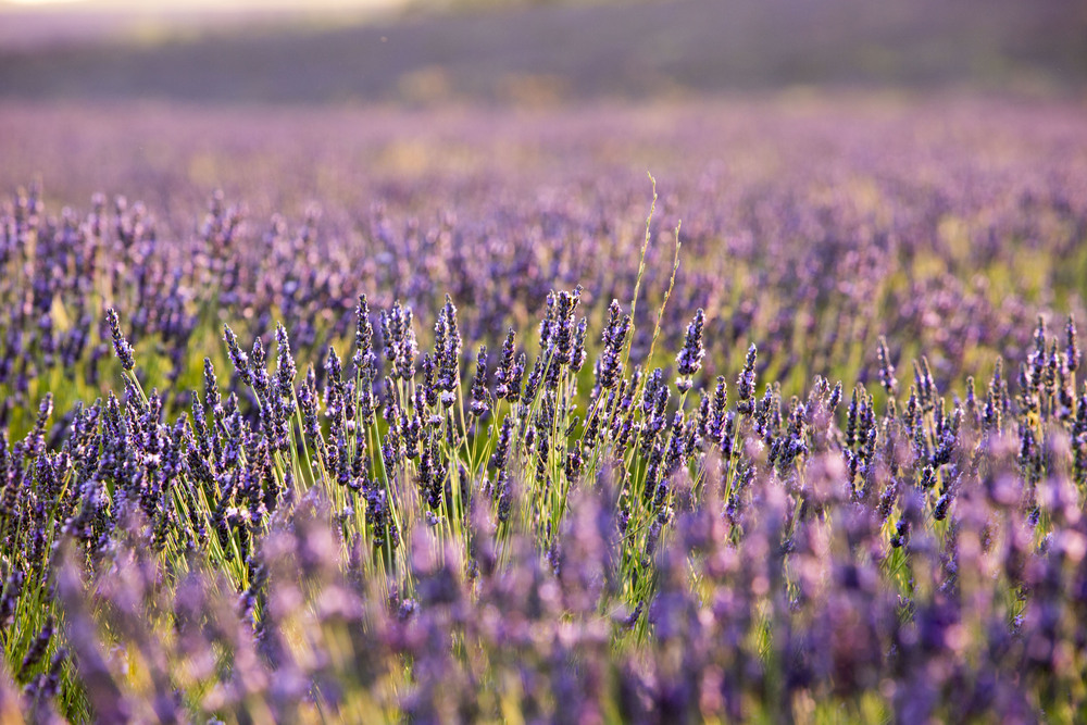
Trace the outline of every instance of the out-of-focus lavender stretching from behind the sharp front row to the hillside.
[[[4, 204], [11, 410], [0, 415], [25, 430], [46, 389], [71, 390], [58, 398], [65, 409], [104, 393], [108, 305], [126, 313], [149, 379], [180, 396], [171, 410], [187, 408], [204, 357], [225, 362], [223, 323], [252, 337], [283, 322], [316, 359], [350, 337], [361, 290], [414, 310], [448, 293], [465, 334], [492, 348], [508, 326], [532, 324], [552, 288], [583, 285], [602, 316], [635, 283], [647, 167], [666, 183], [636, 354], [683, 216], [685, 264], [662, 335], [674, 349], [704, 309], [717, 346], [709, 377], [732, 374], [750, 339], [790, 393], [816, 374], [864, 377], [885, 334], [962, 395], [998, 355], [1022, 359], [1039, 312], [1087, 314], [1082, 114], [975, 105], [513, 117], [5, 109], [0, 182], [48, 183]], [[227, 193], [201, 218], [213, 187], [193, 179], [205, 177]], [[103, 187], [148, 203], [99, 196], [88, 210]], [[304, 213], [314, 199], [321, 211]]]

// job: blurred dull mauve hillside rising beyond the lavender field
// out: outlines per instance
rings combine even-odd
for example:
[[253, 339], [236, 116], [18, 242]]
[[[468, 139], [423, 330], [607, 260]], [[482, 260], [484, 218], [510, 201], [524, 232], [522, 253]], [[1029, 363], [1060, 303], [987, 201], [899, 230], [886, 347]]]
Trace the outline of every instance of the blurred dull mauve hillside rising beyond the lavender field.
[[0, 51], [0, 98], [549, 101], [794, 85], [1087, 86], [1082, 0], [675, 0]]

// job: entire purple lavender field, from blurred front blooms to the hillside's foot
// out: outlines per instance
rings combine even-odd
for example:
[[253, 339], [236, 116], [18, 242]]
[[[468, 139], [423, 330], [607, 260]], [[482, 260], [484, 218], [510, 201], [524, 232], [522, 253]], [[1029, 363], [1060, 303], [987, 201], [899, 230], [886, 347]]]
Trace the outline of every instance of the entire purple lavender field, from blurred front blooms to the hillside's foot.
[[0, 160], [0, 722], [1087, 718], [1082, 102], [9, 99]]

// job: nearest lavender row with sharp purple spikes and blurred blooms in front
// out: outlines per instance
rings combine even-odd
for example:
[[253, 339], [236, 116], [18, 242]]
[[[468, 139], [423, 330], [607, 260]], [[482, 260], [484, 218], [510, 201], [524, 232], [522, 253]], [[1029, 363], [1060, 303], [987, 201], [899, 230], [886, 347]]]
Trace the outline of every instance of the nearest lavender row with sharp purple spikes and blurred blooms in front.
[[47, 398], [2, 448], [22, 695], [9, 680], [0, 703], [109, 722], [1083, 714], [1071, 320], [1039, 323], [1019, 386], [998, 367], [950, 407], [924, 362], [903, 397], [884, 346], [885, 404], [822, 378], [783, 401], [754, 347], [734, 386], [694, 383], [702, 311], [675, 377], [630, 364], [617, 302], [590, 364], [579, 293], [548, 298], [532, 362], [511, 332], [466, 370], [451, 302], [422, 354], [411, 312], [383, 312], [379, 360], [361, 298], [323, 384], [285, 328], [273, 355], [227, 327], [250, 401], [208, 362], [174, 418], [111, 310], [124, 402], [77, 408], [54, 447]]

